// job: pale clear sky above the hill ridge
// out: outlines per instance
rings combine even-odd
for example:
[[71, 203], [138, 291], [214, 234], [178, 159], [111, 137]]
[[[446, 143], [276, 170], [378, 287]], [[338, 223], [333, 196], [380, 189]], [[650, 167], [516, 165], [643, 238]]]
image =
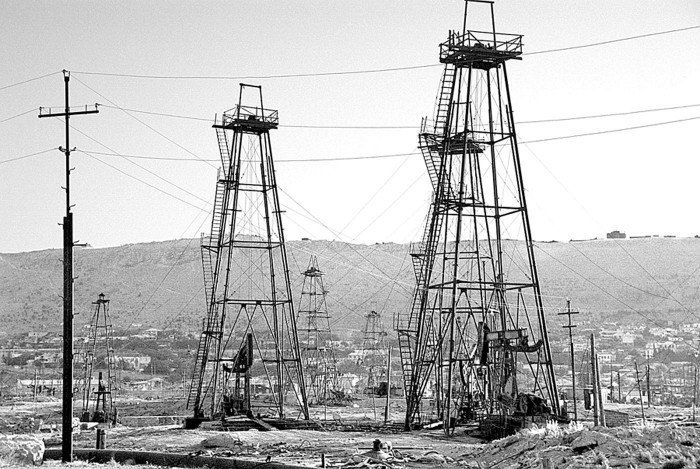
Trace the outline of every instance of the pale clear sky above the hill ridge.
[[[418, 127], [433, 112], [438, 45], [461, 29], [463, 8], [1, 2], [0, 252], [61, 246], [64, 123], [37, 116], [63, 107], [63, 69], [72, 105], [101, 105], [71, 119], [82, 243], [208, 230], [211, 125], [241, 82], [262, 85], [265, 107], [279, 111], [271, 141], [287, 240], [419, 240], [431, 188]], [[524, 35], [508, 75], [534, 238], [700, 234], [700, 3], [500, 0], [495, 12], [499, 32]], [[483, 24], [482, 13], [470, 22]], [[617, 131], [629, 127], [639, 128]], [[571, 137], [581, 134], [591, 135]]]

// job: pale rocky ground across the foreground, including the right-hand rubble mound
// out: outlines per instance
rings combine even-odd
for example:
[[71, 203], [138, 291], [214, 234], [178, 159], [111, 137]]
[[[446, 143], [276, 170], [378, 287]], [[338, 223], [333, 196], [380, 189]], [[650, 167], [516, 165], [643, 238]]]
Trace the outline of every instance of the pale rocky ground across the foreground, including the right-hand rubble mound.
[[[132, 403], [133, 404], [133, 403]], [[47, 447], [58, 448], [60, 435], [52, 431], [59, 402], [15, 402], [0, 405], [0, 433], [35, 434]], [[173, 407], [168, 403], [140, 402], [140, 412]], [[153, 408], [151, 408], [153, 407]], [[617, 406], [618, 409], [620, 406]], [[341, 420], [357, 408], [334, 409]], [[700, 430], [690, 422], [687, 409], [637, 408], [632, 423], [619, 428], [590, 423], [533, 427], [501, 440], [485, 443], [457, 429], [447, 437], [441, 430], [419, 432], [258, 430], [220, 431], [215, 425], [184, 430], [181, 425], [124, 426], [107, 429], [109, 449], [160, 451], [201, 456], [232, 457], [258, 462], [276, 461], [307, 467], [468, 467], [468, 468], [683, 468], [700, 467]], [[583, 417], [587, 417], [585, 412]], [[151, 414], [154, 415], [154, 414]], [[60, 428], [60, 425], [58, 425]], [[338, 427], [335, 427], [338, 428]], [[345, 425], [352, 429], [352, 425]], [[75, 435], [76, 448], [93, 448], [95, 430]], [[381, 442], [373, 450], [375, 440]], [[53, 463], [52, 463], [53, 464]], [[83, 464], [83, 463], [75, 463]], [[2, 465], [2, 459], [0, 459]]]

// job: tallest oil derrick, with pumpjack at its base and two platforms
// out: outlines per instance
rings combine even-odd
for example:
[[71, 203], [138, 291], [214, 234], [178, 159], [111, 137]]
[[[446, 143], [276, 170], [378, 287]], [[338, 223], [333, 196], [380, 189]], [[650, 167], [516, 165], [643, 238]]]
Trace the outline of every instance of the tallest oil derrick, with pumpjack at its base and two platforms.
[[[490, 7], [486, 32], [467, 29], [475, 5]], [[506, 73], [522, 36], [496, 32], [493, 2], [467, 0], [463, 26], [440, 44], [435, 117], [419, 134], [433, 197], [412, 306], [395, 321], [407, 430], [559, 412]]]

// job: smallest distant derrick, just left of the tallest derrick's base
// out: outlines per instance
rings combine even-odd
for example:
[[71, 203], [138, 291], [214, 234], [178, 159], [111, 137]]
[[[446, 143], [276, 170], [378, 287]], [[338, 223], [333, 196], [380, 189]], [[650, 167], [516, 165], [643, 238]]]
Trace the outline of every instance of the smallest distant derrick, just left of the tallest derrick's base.
[[386, 379], [387, 344], [386, 332], [381, 315], [372, 310], [365, 316], [365, 328], [362, 331], [362, 365], [367, 369], [367, 386], [365, 392], [378, 394], [382, 382]]

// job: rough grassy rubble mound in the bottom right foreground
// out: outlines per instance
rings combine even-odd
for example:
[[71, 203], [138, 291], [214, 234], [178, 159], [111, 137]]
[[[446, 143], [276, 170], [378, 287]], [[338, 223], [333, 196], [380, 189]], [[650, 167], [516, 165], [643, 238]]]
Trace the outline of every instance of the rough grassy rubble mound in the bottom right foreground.
[[700, 431], [670, 424], [531, 428], [496, 440], [458, 462], [473, 468], [696, 468]]

